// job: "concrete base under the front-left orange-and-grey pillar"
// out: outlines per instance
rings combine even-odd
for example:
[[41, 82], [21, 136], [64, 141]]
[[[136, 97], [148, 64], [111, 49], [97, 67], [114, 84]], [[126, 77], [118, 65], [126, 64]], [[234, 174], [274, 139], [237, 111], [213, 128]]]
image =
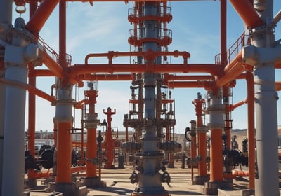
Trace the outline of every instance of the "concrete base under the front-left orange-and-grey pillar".
[[67, 196], [86, 196], [88, 189], [86, 186], [77, 187], [75, 183], [48, 183], [50, 191], [63, 193]]

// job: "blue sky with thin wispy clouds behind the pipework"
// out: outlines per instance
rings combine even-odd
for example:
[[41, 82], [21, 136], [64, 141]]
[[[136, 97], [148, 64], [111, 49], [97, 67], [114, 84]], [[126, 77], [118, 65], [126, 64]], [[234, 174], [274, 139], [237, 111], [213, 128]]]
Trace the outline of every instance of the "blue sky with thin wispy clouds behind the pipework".
[[[275, 15], [281, 9], [281, 1], [275, 0]], [[172, 1], [168, 3], [171, 7], [173, 20], [169, 22], [168, 28], [173, 31], [173, 41], [169, 45], [169, 51], [179, 50], [190, 52], [190, 63], [214, 63], [214, 57], [220, 53], [220, 1]], [[89, 3], [69, 2], [67, 3], [67, 53], [72, 55], [72, 64], [84, 64], [84, 58], [89, 53], [100, 53], [108, 51], [129, 52], [134, 50], [128, 43], [129, 29], [133, 25], [127, 19], [128, 9], [133, 7], [129, 2], [94, 2]], [[227, 45], [228, 48], [244, 31], [244, 25], [233, 7], [228, 2], [227, 10]], [[19, 15], [14, 12], [13, 18]], [[27, 12], [22, 14], [28, 21]], [[280, 23], [281, 24], [281, 23]], [[275, 39], [281, 38], [280, 25], [275, 28]], [[58, 6], [48, 19], [44, 28], [40, 31], [41, 38], [58, 52]], [[118, 59], [129, 63], [129, 59]], [[171, 59], [173, 63], [177, 59]], [[42, 67], [44, 68], [44, 67]], [[280, 71], [276, 71], [276, 80], [281, 80]], [[54, 78], [37, 78], [37, 87], [51, 94], [51, 85]], [[112, 116], [112, 127], [124, 130], [124, 114], [129, 113], [128, 100], [131, 99], [131, 82], [99, 82], [96, 113], [102, 121], [106, 118], [103, 109], [111, 107], [116, 109], [116, 115]], [[85, 85], [86, 86], [86, 85]], [[85, 88], [75, 88], [74, 96], [84, 99]], [[183, 133], [185, 127], [190, 126], [190, 120], [196, 120], [195, 109], [192, 100], [197, 98], [197, 92], [206, 94], [204, 89], [174, 89], [172, 97], [175, 99], [176, 133]], [[233, 88], [233, 104], [247, 97], [246, 84], [237, 80]], [[77, 99], [77, 101], [79, 101]], [[277, 102], [280, 111], [280, 101]], [[81, 127], [81, 111], [74, 111], [75, 127]], [[55, 107], [46, 100], [37, 98], [36, 131], [53, 130], [53, 117]], [[206, 120], [208, 121], [208, 116]], [[240, 106], [232, 113], [233, 128], [247, 128], [247, 105]], [[26, 116], [26, 122], [28, 116]], [[281, 124], [281, 118], [278, 118]], [[27, 123], [26, 127], [27, 128]], [[98, 127], [102, 130], [103, 127]]]

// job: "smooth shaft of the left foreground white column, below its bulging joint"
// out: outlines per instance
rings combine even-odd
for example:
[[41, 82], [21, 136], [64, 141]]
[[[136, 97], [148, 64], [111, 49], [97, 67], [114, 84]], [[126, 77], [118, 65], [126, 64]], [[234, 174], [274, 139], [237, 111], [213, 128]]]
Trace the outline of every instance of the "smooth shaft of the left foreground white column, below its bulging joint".
[[[8, 80], [27, 83], [27, 67], [7, 66], [5, 77]], [[25, 90], [6, 86], [2, 195], [23, 193], [25, 96]]]

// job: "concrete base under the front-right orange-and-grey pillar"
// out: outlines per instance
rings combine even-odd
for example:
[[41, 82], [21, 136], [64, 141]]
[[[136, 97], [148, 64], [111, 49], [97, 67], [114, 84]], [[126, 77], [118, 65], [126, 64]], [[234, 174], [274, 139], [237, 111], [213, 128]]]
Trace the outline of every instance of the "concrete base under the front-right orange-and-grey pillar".
[[218, 188], [233, 188], [233, 183], [229, 181], [208, 181], [205, 182], [205, 186], [202, 188], [202, 193], [206, 195], [218, 195]]

